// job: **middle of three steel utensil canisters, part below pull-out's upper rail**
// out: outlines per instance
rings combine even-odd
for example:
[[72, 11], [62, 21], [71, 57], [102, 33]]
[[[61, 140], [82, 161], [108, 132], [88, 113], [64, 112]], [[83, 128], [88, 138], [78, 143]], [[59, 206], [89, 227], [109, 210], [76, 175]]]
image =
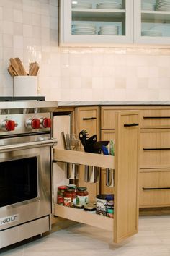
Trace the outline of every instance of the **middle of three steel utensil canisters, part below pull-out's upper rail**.
[[84, 166], [84, 181], [87, 183], [99, 182], [100, 168], [97, 166]]

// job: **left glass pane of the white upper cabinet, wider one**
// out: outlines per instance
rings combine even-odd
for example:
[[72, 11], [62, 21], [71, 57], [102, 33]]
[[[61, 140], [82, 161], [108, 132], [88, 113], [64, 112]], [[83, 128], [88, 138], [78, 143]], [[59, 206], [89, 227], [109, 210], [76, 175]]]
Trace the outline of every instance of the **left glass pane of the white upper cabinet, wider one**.
[[72, 0], [71, 35], [126, 35], [125, 0]]

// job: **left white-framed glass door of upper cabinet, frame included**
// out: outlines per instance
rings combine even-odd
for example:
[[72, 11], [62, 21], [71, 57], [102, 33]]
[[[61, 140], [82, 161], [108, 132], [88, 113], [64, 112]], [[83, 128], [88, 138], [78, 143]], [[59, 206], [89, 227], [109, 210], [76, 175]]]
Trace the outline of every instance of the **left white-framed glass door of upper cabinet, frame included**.
[[133, 0], [61, 0], [60, 45], [133, 43]]

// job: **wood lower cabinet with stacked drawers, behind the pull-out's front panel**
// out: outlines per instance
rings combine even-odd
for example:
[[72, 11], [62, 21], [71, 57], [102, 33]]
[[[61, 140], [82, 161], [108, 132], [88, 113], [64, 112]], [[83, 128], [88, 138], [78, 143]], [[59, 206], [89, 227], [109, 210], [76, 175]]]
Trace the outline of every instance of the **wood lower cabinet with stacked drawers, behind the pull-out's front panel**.
[[140, 115], [139, 207], [170, 206], [170, 106], [102, 106], [103, 138], [112, 137], [118, 109], [133, 109]]

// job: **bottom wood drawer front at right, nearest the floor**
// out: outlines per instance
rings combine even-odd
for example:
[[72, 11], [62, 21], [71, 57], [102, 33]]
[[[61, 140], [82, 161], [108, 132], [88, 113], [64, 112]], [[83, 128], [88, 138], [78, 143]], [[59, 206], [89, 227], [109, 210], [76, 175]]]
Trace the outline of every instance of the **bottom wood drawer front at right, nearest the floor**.
[[140, 207], [170, 205], [170, 171], [140, 172]]

